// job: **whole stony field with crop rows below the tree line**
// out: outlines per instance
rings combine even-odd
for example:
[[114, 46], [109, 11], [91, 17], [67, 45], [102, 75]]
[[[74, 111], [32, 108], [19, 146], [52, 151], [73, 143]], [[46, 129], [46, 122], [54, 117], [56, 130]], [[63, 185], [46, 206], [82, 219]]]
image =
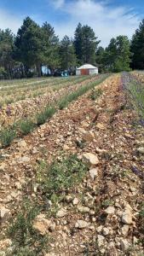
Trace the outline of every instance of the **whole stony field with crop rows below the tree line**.
[[144, 73], [0, 81], [0, 255], [144, 255]]

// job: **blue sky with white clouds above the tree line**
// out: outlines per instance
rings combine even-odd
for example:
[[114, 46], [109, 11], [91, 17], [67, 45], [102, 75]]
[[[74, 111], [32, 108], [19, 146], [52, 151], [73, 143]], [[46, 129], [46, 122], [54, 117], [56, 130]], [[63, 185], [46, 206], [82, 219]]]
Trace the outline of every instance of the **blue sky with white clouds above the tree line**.
[[111, 38], [129, 38], [144, 18], [144, 0], [0, 0], [0, 28], [16, 34], [26, 16], [39, 25], [48, 21], [56, 35], [73, 37], [78, 22], [91, 26], [101, 46]]

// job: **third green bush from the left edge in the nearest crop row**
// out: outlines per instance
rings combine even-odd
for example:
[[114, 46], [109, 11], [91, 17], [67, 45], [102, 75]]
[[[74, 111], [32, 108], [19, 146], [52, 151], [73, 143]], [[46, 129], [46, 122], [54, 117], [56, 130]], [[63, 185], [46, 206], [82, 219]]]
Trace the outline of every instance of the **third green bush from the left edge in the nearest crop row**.
[[43, 125], [47, 119], [50, 119], [56, 112], [55, 107], [47, 107], [43, 112], [37, 114], [37, 125]]

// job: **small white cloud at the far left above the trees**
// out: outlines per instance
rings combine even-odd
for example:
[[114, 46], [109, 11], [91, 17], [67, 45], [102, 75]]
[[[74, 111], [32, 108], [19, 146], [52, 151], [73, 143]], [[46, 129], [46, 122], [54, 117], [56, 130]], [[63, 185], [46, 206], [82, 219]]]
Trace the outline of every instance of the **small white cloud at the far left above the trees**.
[[21, 26], [23, 18], [19, 17], [18, 15], [12, 15], [6, 10], [0, 9], [0, 28], [9, 29], [16, 33], [18, 28]]

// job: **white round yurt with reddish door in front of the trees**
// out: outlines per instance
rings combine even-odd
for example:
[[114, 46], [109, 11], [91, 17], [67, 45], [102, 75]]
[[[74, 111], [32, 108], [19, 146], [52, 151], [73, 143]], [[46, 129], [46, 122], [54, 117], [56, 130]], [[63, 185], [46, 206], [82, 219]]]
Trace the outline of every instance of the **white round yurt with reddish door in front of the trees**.
[[95, 67], [91, 64], [84, 64], [81, 67], [76, 69], [76, 75], [93, 75], [98, 74], [98, 67]]

